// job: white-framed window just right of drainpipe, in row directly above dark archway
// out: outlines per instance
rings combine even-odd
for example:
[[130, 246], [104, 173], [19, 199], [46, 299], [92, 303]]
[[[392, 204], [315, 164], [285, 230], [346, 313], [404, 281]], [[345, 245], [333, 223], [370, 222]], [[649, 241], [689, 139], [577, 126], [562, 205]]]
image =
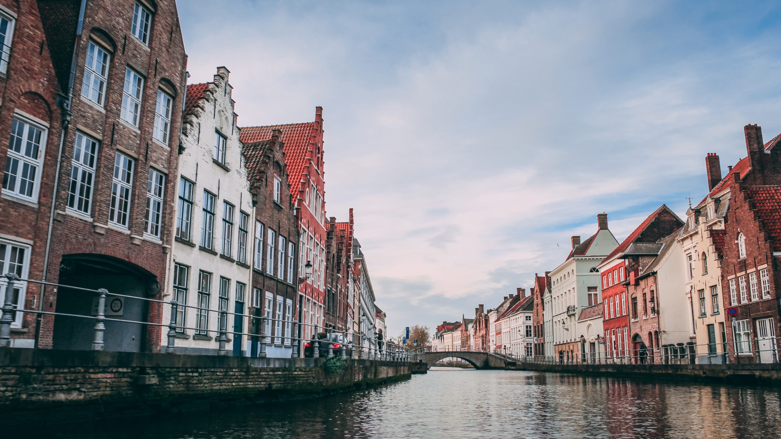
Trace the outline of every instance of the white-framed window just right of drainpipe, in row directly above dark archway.
[[95, 156], [98, 141], [76, 133], [73, 161], [70, 168], [68, 208], [89, 215], [92, 204], [92, 185], [95, 182]]

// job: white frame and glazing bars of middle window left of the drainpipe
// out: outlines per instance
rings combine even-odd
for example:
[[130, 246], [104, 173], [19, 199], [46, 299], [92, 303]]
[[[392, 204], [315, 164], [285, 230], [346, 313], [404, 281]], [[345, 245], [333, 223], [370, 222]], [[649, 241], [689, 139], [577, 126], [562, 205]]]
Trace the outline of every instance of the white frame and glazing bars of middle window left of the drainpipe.
[[[16, 123], [16, 127], [19, 127], [19, 124], [22, 124], [23, 132], [21, 137], [18, 134], [14, 133], [13, 131], [14, 123]], [[33, 156], [27, 154], [28, 146], [30, 146], [28, 145], [30, 144], [30, 139], [29, 139], [30, 130], [40, 131], [40, 136], [41, 136], [40, 139], [38, 140], [37, 145], [35, 145], [34, 143], [31, 144], [37, 146], [37, 154], [34, 150], [29, 151], [30, 154]], [[44, 157], [46, 156], [47, 137], [48, 137], [48, 127], [45, 127], [40, 123], [34, 123], [32, 120], [20, 116], [19, 114], [15, 114], [13, 116], [13, 120], [11, 123], [11, 137], [9, 139], [9, 145], [8, 145], [8, 155], [5, 158], [5, 172], [3, 173], [3, 181], [2, 181], [3, 193], [12, 195], [13, 197], [16, 198], [22, 198], [30, 202], [34, 202], [34, 203], [38, 202], [38, 192], [41, 190], [41, 176], [43, 174]], [[11, 148], [11, 141], [15, 139], [18, 139], [19, 151], [16, 151], [14, 148]], [[16, 162], [16, 174], [9, 173], [10, 166], [12, 166], [11, 160], [14, 160]], [[29, 170], [30, 167], [34, 168], [34, 175], [31, 176], [34, 180], [32, 181], [30, 195], [23, 194], [21, 192], [21, 186], [23, 180], [22, 177], [24, 175], [23, 172], [25, 170], [25, 166], [27, 166], [27, 170]], [[10, 175], [13, 175], [12, 187], [7, 187], [9, 186], [9, 183], [11, 183], [11, 177], [8, 177]], [[27, 181], [30, 180], [29, 173], [27, 174], [27, 178], [25, 178], [24, 180]]]

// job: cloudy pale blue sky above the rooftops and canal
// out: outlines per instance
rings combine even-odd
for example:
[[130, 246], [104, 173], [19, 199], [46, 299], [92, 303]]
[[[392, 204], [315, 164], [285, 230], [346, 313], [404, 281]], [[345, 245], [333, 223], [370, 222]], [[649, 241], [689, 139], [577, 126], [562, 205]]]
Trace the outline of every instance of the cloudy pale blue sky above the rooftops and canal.
[[[219, 5], [219, 7], [216, 7]], [[659, 205], [685, 217], [781, 132], [777, 2], [180, 0], [191, 82], [230, 70], [239, 125], [323, 106], [327, 216], [355, 209], [388, 333], [494, 308], [622, 241]]]

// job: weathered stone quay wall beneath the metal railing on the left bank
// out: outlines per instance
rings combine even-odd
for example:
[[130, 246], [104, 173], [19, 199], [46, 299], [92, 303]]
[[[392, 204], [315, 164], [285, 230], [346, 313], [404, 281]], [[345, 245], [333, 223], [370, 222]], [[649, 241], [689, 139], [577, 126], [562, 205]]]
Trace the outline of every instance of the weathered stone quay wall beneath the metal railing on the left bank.
[[51, 409], [168, 409], [210, 402], [269, 402], [391, 383], [411, 362], [257, 359], [218, 355], [0, 349], [0, 416]]

